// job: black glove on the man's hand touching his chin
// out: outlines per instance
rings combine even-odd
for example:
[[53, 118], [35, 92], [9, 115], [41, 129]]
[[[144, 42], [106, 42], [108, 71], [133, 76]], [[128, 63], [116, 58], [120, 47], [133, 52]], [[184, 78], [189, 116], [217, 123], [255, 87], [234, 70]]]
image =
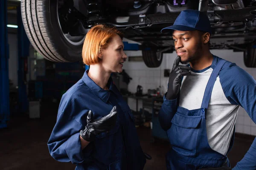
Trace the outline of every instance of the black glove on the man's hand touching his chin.
[[179, 65], [180, 60], [180, 56], [175, 59], [172, 71], [169, 75], [168, 90], [166, 94], [166, 99], [168, 100], [177, 98], [177, 94], [180, 92], [181, 78], [191, 74], [188, 66]]

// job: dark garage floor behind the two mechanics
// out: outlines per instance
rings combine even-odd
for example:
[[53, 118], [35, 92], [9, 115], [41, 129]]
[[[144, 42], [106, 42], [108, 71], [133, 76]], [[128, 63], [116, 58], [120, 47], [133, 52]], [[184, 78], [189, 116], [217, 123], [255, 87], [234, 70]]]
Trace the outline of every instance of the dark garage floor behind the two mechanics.
[[[52, 127], [55, 125], [58, 104], [44, 103], [41, 119], [26, 116], [12, 118], [9, 128], [0, 129], [0, 170], [74, 170], [75, 165], [55, 161], [47, 147]], [[165, 170], [165, 154], [169, 150], [166, 141], [150, 143], [150, 129], [139, 127], [143, 151], [152, 156], [144, 170]], [[236, 138], [229, 153], [231, 165], [235, 166], [253, 141]]]

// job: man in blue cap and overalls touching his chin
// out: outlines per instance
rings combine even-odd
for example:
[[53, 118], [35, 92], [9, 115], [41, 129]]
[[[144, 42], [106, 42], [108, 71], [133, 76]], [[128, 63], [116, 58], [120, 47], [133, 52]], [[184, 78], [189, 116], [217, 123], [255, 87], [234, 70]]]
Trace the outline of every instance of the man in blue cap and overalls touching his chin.
[[[167, 170], [231, 169], [227, 153], [239, 107], [256, 123], [256, 81], [235, 63], [211, 54], [211, 26], [204, 13], [184, 10], [173, 26], [161, 30], [168, 31], [178, 57], [159, 112], [172, 145]], [[256, 170], [256, 139], [233, 170]]]

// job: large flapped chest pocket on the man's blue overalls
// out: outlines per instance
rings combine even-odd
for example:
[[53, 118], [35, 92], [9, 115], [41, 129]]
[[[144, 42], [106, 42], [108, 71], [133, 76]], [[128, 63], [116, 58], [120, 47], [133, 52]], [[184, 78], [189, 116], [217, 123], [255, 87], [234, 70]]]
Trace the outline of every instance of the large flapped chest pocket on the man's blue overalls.
[[202, 116], [185, 116], [175, 113], [167, 135], [172, 148], [183, 156], [194, 156], [198, 143], [199, 124]]

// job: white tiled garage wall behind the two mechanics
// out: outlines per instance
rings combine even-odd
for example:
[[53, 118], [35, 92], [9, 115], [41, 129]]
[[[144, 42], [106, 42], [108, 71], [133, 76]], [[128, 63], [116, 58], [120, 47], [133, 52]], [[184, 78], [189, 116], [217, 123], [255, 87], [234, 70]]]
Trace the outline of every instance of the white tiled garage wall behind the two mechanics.
[[[256, 68], [246, 68], [243, 62], [242, 52], [233, 52], [233, 50], [212, 50], [212, 54], [235, 62], [239, 67], [243, 68], [256, 79]], [[141, 56], [141, 51], [125, 51], [128, 57]], [[143, 86], [143, 93], [147, 93], [147, 89], [160, 87], [161, 94], [167, 91], [168, 77], [163, 77], [164, 69], [172, 69], [173, 62], [177, 57], [176, 53], [164, 54], [163, 62], [159, 68], [147, 68], [144, 62], [128, 62], [124, 63], [124, 69], [133, 78], [128, 85], [128, 90], [132, 93], [136, 92], [137, 85]], [[128, 99], [128, 105], [132, 110], [136, 110], [136, 100]], [[139, 101], [139, 108], [142, 108], [142, 101]], [[246, 133], [256, 136], [256, 125], [247, 115], [243, 108], [239, 109], [236, 121], [236, 132]]]

